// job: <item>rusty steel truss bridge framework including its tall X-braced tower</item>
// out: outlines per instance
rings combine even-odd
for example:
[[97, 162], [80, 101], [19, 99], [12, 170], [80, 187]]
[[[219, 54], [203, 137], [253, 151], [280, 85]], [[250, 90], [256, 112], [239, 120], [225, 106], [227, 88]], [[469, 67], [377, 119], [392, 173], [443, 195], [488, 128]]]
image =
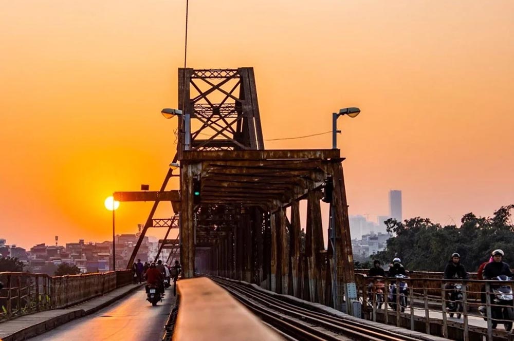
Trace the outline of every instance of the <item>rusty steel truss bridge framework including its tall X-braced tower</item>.
[[[350, 312], [353, 255], [339, 150], [264, 150], [252, 68], [179, 69], [178, 82], [184, 115], [178, 118], [174, 210], [183, 277], [198, 271], [246, 280]], [[325, 249], [321, 199], [328, 178], [337, 237]], [[166, 224], [152, 220], [153, 212], [149, 226]]]

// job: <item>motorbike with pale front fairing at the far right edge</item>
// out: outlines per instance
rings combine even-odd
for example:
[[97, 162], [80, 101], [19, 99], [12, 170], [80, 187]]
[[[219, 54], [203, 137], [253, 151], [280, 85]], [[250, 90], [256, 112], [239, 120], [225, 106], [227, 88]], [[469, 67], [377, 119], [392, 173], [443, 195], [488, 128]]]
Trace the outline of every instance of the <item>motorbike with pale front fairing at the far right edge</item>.
[[[498, 281], [512, 280], [511, 277], [505, 275], [500, 275], [493, 279]], [[512, 329], [512, 321], [514, 321], [512, 297], [511, 286], [501, 283], [499, 283], [499, 285], [491, 284], [491, 319], [493, 329], [496, 329], [500, 320], [502, 320], [501, 323], [503, 323], [506, 331]], [[484, 316], [484, 319], [487, 320], [486, 313], [481, 311], [481, 314]]]

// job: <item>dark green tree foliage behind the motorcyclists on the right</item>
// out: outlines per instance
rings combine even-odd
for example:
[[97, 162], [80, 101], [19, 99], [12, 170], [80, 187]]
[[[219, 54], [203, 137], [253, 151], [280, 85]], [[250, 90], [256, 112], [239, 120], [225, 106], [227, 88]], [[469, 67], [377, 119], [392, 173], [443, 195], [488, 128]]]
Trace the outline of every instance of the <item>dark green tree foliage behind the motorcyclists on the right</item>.
[[461, 255], [461, 262], [469, 272], [489, 259], [494, 249], [505, 252], [504, 261], [514, 260], [514, 224], [511, 210], [514, 205], [502, 206], [490, 218], [464, 215], [461, 226], [442, 226], [427, 218], [411, 218], [403, 222], [389, 219], [387, 231], [395, 237], [387, 241], [387, 248], [372, 258], [390, 263], [400, 257], [408, 270], [443, 271], [452, 253]]

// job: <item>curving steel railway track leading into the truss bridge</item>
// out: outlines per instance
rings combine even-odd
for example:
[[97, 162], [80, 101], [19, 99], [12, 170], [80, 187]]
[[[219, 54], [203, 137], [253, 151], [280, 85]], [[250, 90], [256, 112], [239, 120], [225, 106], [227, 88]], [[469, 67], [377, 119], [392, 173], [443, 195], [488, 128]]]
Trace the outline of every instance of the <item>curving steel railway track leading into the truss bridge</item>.
[[366, 341], [419, 341], [419, 338], [360, 324], [320, 312], [311, 311], [273, 298], [259, 290], [237, 285], [228, 280], [213, 278], [265, 324], [277, 330], [284, 338], [298, 341], [314, 340], [366, 340]]

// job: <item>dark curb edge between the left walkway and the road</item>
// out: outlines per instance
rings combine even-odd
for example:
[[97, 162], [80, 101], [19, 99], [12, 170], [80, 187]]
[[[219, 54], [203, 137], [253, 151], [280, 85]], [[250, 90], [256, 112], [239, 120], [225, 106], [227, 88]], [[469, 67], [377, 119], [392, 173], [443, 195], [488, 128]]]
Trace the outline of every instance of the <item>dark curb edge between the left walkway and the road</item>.
[[[116, 297], [113, 297], [112, 299], [109, 299], [108, 301], [103, 302], [101, 305], [91, 308], [87, 311], [84, 309], [75, 309], [74, 310], [72, 308], [68, 308], [70, 311], [65, 312], [59, 316], [47, 319], [38, 324], [35, 324], [32, 326], [26, 327], [24, 329], [21, 329], [19, 331], [16, 331], [13, 334], [5, 336], [3, 339], [0, 339], [0, 341], [23, 341], [30, 337], [34, 337], [36, 335], [43, 334], [49, 330], [52, 330], [54, 328], [64, 325], [64, 324], [68, 323], [69, 321], [72, 321], [74, 319], [77, 319], [77, 318], [80, 318], [80, 317], [83, 317], [86, 315], [93, 314], [109, 305], [112, 305], [114, 302], [116, 302], [120, 298], [133, 293], [134, 291], [140, 289], [142, 286], [143, 286], [143, 284], [136, 286], [134, 288], [131, 288], [130, 290], [128, 290]], [[98, 296], [98, 297], [101, 297], [101, 296]], [[95, 297], [95, 298], [97, 298], [97, 297]], [[95, 299], [95, 298], [93, 298], [93, 299]]]

